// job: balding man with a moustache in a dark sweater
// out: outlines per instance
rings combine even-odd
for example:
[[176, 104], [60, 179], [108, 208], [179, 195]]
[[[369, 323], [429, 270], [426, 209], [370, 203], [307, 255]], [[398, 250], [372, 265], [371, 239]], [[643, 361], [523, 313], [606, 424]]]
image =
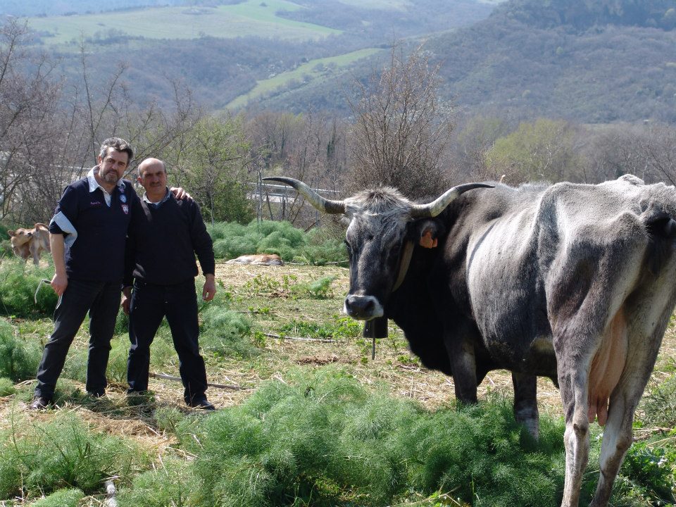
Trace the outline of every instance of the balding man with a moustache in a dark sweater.
[[[146, 193], [142, 213], [134, 214], [127, 239], [123, 308], [129, 313], [131, 342], [127, 362], [128, 393], [148, 389], [150, 345], [166, 316], [178, 353], [184, 400], [192, 407], [214, 410], [206, 399], [206, 369], [199, 353], [195, 254], [204, 273], [202, 299], [216, 292], [213, 244], [199, 206], [178, 201], [167, 188], [162, 161], [139, 164], [139, 183]], [[132, 292], [133, 280], [133, 292]]]

